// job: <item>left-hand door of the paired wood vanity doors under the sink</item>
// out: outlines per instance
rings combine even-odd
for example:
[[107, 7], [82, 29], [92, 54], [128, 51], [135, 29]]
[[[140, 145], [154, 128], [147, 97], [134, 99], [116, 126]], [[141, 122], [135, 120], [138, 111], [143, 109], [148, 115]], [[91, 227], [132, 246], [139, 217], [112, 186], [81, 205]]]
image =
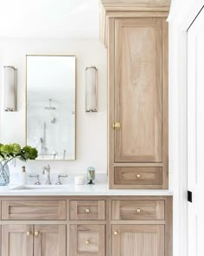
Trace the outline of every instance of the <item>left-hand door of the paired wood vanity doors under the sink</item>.
[[33, 256], [33, 226], [3, 225], [1, 251], [2, 256]]

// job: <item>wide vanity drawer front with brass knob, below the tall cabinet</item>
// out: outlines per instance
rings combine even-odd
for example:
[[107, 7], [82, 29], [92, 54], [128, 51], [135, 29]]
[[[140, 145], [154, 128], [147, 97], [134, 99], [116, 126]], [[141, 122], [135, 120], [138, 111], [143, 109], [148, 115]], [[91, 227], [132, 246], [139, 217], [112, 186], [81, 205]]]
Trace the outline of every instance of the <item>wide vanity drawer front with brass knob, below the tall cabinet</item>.
[[112, 200], [112, 220], [164, 220], [164, 200]]

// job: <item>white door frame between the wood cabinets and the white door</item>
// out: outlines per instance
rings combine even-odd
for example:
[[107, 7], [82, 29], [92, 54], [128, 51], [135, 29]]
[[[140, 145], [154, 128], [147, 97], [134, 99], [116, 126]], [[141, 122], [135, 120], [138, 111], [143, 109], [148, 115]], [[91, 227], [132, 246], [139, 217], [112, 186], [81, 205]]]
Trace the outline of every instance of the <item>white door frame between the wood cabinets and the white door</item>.
[[181, 18], [185, 5], [178, 8], [173, 5], [175, 0], [172, 1], [168, 19], [169, 37], [174, 41], [169, 41], [169, 136], [172, 137], [169, 141], [173, 141], [169, 145], [169, 167], [173, 170], [174, 256], [188, 256], [188, 28], [200, 13], [204, 0], [192, 2]]

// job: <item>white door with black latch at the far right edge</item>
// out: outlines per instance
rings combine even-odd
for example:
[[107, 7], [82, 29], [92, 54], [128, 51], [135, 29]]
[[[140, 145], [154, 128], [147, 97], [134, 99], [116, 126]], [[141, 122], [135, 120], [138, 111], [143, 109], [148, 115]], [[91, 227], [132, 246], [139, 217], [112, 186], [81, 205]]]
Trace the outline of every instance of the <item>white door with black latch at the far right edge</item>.
[[204, 10], [188, 30], [188, 256], [204, 256]]

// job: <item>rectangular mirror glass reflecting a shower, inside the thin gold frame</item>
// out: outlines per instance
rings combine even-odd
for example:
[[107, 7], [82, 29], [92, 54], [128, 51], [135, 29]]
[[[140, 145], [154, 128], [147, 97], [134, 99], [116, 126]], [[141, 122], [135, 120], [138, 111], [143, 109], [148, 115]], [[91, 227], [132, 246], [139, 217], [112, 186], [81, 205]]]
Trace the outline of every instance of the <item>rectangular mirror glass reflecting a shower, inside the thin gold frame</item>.
[[27, 56], [27, 144], [38, 159], [75, 159], [75, 56]]

